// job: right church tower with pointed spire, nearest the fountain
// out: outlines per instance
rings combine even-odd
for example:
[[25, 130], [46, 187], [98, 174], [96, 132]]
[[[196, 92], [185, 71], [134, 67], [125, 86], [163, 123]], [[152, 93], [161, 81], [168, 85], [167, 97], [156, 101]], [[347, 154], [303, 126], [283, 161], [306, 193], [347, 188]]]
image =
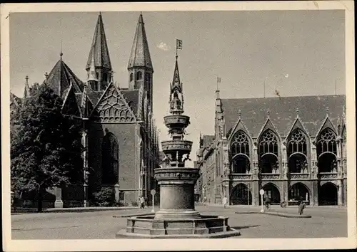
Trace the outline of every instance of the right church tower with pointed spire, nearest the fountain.
[[143, 15], [140, 14], [136, 26], [133, 46], [131, 48], [129, 64], [129, 90], [139, 89], [144, 85], [144, 90], [148, 95], [149, 106], [153, 103], [153, 73], [154, 68], [151, 63], [149, 45], [146, 39]]

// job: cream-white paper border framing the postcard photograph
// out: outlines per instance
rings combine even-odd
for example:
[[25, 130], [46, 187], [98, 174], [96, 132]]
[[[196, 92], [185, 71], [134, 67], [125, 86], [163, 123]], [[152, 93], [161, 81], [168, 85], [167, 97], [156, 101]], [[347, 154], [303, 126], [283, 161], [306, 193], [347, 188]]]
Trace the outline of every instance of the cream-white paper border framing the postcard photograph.
[[[348, 164], [348, 238], [195, 240], [11, 240], [9, 171], [9, 16], [10, 12], [84, 11], [243, 11], [344, 9], [346, 18], [346, 117]], [[353, 1], [256, 1], [179, 3], [1, 4], [1, 149], [4, 251], [149, 251], [356, 248], [356, 112]], [[8, 207], [4, 207], [8, 206]], [[94, 228], [95, 230], [95, 228]], [[114, 235], [114, 234], [113, 234]]]

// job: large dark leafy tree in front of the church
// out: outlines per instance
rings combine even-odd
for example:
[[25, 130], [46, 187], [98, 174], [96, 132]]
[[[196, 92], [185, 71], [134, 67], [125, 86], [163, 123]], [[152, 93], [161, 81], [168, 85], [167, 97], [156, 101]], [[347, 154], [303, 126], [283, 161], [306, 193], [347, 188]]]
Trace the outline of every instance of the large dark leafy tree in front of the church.
[[83, 177], [81, 124], [61, 113], [63, 100], [46, 84], [30, 94], [11, 116], [11, 189], [36, 190], [42, 211], [46, 189]]

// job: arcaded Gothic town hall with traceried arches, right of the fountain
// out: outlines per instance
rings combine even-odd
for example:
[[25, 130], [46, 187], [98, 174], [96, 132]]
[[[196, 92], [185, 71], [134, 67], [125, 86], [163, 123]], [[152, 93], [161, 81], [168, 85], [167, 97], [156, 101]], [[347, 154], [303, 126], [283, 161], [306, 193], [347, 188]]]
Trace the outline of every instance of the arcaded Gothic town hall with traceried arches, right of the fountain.
[[200, 137], [207, 203], [346, 205], [345, 95], [223, 99], [214, 135]]

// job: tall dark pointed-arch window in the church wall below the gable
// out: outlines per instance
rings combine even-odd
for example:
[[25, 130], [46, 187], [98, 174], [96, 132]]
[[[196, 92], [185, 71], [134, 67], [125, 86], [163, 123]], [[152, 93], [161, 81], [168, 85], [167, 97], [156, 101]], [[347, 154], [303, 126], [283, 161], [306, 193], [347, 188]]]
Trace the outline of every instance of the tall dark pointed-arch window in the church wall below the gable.
[[106, 132], [102, 145], [102, 183], [119, 183], [119, 144], [111, 132]]

